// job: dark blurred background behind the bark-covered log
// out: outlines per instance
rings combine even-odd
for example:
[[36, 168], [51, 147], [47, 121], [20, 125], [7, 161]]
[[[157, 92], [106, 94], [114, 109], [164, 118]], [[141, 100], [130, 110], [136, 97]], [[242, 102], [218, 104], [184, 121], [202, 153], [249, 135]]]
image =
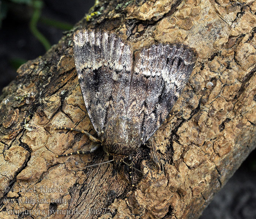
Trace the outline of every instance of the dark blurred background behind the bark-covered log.
[[[36, 9], [41, 15], [34, 27], [53, 45], [93, 5], [94, 0], [0, 0], [0, 93], [16, 77], [20, 64], [46, 51], [31, 31], [35, 8], [41, 8]], [[255, 157], [253, 151], [200, 219], [256, 219]]]

